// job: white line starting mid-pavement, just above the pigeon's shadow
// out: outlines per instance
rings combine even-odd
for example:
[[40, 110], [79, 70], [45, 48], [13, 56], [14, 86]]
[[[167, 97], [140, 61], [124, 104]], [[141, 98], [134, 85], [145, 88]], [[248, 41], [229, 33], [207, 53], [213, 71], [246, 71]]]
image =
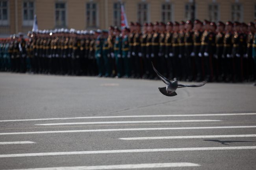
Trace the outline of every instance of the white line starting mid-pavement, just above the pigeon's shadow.
[[250, 135], [198, 135], [198, 136], [158, 136], [158, 137], [123, 137], [121, 140], [148, 140], [148, 139], [197, 139], [197, 138], [223, 138], [223, 137], [256, 137]]

